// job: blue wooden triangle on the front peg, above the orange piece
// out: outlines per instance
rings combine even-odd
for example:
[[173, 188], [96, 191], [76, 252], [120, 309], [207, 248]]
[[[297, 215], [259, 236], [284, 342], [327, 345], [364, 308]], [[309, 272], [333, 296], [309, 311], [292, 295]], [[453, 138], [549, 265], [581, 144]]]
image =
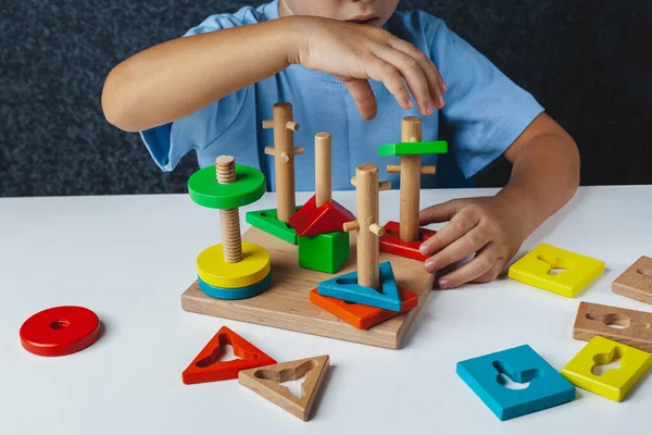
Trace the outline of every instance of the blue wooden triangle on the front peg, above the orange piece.
[[358, 271], [355, 271], [317, 284], [317, 293], [347, 302], [401, 311], [401, 298], [391, 264], [389, 261], [385, 261], [379, 264], [379, 268], [380, 291], [358, 285]]

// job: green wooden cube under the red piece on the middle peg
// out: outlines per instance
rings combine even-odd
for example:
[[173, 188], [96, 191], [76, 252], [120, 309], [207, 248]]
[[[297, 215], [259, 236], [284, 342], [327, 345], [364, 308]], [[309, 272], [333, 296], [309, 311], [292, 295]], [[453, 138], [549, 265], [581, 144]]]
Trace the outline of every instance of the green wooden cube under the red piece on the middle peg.
[[299, 236], [299, 265], [304, 269], [336, 273], [349, 258], [349, 233]]

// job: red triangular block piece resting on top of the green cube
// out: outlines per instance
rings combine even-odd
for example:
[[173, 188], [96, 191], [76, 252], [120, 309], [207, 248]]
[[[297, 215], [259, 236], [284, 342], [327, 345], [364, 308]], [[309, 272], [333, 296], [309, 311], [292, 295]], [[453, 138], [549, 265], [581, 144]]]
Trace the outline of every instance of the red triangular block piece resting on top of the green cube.
[[313, 195], [290, 217], [289, 223], [299, 236], [316, 236], [317, 234], [343, 231], [343, 224], [355, 221], [353, 213], [338, 202], [330, 201], [317, 208], [316, 201], [316, 196]]

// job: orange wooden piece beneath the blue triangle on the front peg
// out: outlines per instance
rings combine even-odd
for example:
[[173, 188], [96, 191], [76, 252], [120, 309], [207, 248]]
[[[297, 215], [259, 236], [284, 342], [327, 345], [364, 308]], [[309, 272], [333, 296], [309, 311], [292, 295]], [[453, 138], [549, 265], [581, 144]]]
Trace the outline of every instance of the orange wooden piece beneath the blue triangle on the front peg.
[[399, 296], [401, 297], [400, 312], [384, 310], [381, 308], [369, 307], [362, 303], [348, 303], [341, 299], [322, 296], [317, 293], [316, 288], [311, 290], [310, 300], [350, 325], [355, 326], [359, 330], [368, 330], [378, 323], [408, 312], [418, 304], [418, 297], [403, 287], [399, 287]]

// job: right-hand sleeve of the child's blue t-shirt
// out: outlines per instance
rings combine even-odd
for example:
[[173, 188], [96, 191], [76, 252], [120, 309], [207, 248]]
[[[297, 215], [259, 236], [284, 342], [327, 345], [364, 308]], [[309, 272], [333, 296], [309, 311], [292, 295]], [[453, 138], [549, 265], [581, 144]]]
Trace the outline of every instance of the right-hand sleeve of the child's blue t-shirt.
[[472, 177], [502, 156], [543, 108], [438, 21], [430, 55], [448, 91], [440, 120], [457, 165]]

